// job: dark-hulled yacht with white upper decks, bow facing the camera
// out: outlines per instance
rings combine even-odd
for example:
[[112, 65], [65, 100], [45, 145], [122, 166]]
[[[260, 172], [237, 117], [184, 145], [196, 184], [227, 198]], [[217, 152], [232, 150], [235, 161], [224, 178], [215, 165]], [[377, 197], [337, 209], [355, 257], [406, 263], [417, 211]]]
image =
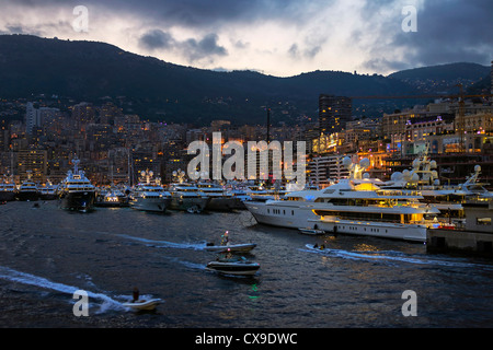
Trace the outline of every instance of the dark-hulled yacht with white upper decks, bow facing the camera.
[[69, 171], [59, 186], [60, 208], [88, 212], [94, 208], [95, 186], [79, 170], [79, 163], [72, 160], [73, 172]]

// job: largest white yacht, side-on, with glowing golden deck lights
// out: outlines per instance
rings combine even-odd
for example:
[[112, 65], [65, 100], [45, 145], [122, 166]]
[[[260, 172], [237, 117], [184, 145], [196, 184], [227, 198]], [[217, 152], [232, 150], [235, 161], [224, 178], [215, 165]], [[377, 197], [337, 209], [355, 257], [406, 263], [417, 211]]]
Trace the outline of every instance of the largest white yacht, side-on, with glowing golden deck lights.
[[439, 210], [420, 203], [422, 196], [380, 192], [375, 185], [349, 179], [322, 190], [290, 192], [282, 200], [249, 201], [259, 223], [325, 232], [425, 242]]

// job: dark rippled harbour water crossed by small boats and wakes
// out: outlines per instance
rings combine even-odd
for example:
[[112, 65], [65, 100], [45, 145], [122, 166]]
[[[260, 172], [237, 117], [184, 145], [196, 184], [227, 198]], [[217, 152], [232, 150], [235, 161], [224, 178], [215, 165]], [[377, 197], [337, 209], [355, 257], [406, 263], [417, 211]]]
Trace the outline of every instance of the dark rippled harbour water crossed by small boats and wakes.
[[[207, 271], [203, 248], [229, 231], [254, 242], [254, 277]], [[325, 243], [314, 252], [307, 244]], [[122, 307], [134, 287], [164, 303]], [[74, 213], [56, 201], [0, 206], [1, 327], [374, 328], [491, 327], [493, 261], [426, 253], [423, 244], [312, 237], [238, 213]], [[76, 317], [76, 290], [89, 293]], [[417, 316], [404, 317], [404, 291]]]

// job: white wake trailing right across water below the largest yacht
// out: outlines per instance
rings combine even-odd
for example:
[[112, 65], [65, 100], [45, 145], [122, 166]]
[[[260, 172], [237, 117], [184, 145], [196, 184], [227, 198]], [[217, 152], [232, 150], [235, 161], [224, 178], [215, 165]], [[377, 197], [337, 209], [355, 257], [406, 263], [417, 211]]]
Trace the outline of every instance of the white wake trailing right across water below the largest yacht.
[[343, 249], [331, 249], [331, 248], [314, 248], [313, 245], [307, 244], [307, 249], [300, 249], [301, 252], [321, 254], [330, 257], [337, 257], [343, 259], [352, 260], [366, 260], [366, 261], [382, 261], [382, 262], [406, 262], [416, 265], [429, 265], [429, 266], [444, 266], [444, 267], [455, 267], [455, 268], [483, 268], [488, 270], [493, 270], [491, 265], [481, 265], [474, 262], [460, 262], [460, 261], [449, 261], [444, 259], [434, 259], [429, 257], [416, 257], [410, 256], [401, 252], [348, 252]]

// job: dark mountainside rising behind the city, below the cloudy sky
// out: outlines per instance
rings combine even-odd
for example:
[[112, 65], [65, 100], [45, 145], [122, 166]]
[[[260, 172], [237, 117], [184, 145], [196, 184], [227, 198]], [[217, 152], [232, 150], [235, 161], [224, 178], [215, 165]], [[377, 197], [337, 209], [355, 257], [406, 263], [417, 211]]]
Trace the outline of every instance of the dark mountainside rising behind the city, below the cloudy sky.
[[[445, 70], [449, 81], [462, 79], [454, 73], [457, 70]], [[421, 72], [419, 69], [415, 75]], [[321, 93], [348, 96], [422, 93], [412, 83], [412, 77], [410, 71], [390, 77], [316, 71], [290, 78], [252, 71], [217, 72], [142, 57], [104, 43], [0, 35], [2, 97], [45, 94], [98, 102], [103, 96], [125, 96], [127, 113], [195, 125], [207, 125], [213, 119], [264, 122], [267, 105], [276, 121], [290, 122], [300, 115], [317, 117]], [[386, 105], [381, 101], [367, 101], [360, 109], [363, 103], [355, 101], [355, 110], [364, 109], [371, 115], [382, 108], [393, 110], [397, 102]]]

